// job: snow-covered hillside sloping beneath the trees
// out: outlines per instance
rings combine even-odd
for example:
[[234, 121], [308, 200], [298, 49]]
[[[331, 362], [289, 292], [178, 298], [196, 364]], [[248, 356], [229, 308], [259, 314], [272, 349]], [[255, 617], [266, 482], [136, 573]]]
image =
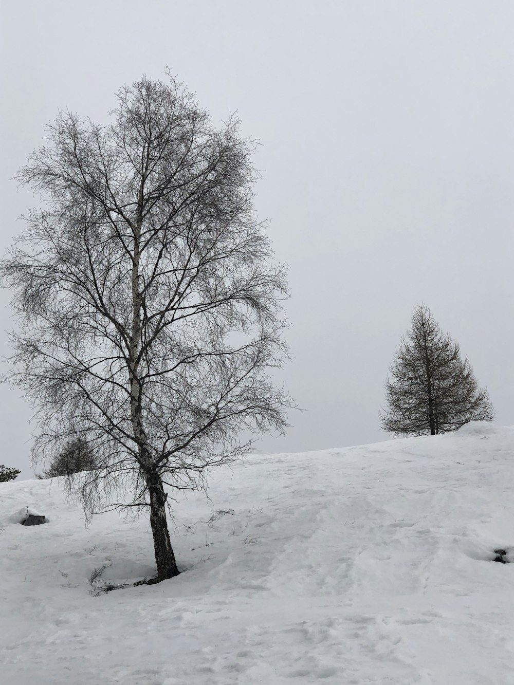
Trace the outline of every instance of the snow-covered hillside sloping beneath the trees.
[[104, 563], [154, 572], [147, 521], [86, 529], [57, 481], [0, 484], [0, 682], [514, 684], [514, 563], [492, 561], [513, 475], [514, 428], [487, 424], [251, 456], [175, 506], [184, 573], [98, 597]]

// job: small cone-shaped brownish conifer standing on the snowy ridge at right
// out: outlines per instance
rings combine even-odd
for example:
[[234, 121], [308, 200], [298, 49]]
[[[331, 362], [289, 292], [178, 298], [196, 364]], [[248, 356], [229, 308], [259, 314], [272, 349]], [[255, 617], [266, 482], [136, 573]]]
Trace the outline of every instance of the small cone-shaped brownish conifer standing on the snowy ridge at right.
[[469, 421], [491, 421], [487, 391], [478, 388], [472, 366], [424, 304], [389, 368], [382, 427], [395, 435], [437, 435]]

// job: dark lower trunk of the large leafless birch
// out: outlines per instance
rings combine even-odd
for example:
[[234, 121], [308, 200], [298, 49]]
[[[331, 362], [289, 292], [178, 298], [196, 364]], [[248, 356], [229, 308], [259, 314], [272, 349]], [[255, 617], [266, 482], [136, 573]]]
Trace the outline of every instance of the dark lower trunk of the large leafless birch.
[[157, 564], [157, 576], [153, 580], [159, 583], [161, 580], [173, 578], [179, 575], [175, 554], [169, 539], [168, 523], [166, 520], [167, 495], [162, 487], [159, 475], [152, 475], [147, 479], [150, 495], [150, 525], [154, 536], [154, 550]]

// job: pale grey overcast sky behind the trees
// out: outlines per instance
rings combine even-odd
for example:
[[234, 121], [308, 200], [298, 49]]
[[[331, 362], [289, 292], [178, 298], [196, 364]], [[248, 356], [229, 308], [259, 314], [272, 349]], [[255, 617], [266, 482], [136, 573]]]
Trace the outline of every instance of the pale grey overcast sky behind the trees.
[[[511, 0], [5, 0], [0, 21], [2, 253], [34, 203], [8, 179], [45, 123], [106, 122], [123, 83], [169, 65], [260, 139], [257, 208], [291, 264], [278, 380], [306, 412], [260, 449], [387, 438], [384, 378], [421, 301], [514, 423]], [[31, 410], [0, 402], [0, 463], [32, 477]]]

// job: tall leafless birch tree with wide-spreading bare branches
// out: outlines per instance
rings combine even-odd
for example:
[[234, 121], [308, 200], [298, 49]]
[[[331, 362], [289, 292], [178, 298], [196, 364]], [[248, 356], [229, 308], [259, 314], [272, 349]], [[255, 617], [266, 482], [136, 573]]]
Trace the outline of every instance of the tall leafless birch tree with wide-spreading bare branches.
[[242, 431], [286, 426], [268, 371], [287, 356], [286, 271], [254, 213], [256, 144], [238, 121], [215, 127], [171, 77], [117, 101], [105, 127], [60, 113], [21, 169], [47, 203], [3, 261], [10, 378], [37, 408], [35, 460], [87, 434], [87, 512], [114, 493], [149, 507], [158, 582], [179, 573], [164, 486], [201, 488], [249, 448]]

